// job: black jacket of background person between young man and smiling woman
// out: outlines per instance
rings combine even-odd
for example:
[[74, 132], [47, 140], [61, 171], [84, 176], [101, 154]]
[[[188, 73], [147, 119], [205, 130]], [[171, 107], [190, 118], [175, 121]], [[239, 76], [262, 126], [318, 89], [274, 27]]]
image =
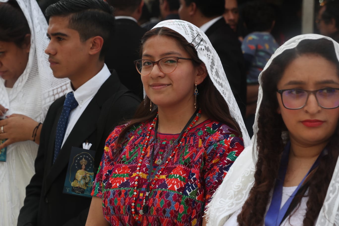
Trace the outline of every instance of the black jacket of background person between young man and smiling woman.
[[109, 51], [105, 55], [105, 63], [109, 69], [115, 69], [119, 79], [140, 99], [143, 99], [143, 86], [140, 74], [133, 61], [139, 60], [141, 38], [146, 29], [130, 19], [115, 20], [114, 38], [110, 40]]

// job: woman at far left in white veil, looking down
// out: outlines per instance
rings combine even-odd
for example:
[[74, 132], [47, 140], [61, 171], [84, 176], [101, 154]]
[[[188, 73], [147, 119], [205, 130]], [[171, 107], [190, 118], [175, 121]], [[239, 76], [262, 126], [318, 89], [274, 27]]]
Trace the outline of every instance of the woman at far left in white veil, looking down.
[[47, 22], [35, 0], [0, 0], [0, 20], [0, 139], [6, 139], [0, 147], [7, 146], [0, 162], [0, 225], [13, 226], [34, 174], [39, 123], [64, 95], [67, 80], [54, 78], [49, 68]]

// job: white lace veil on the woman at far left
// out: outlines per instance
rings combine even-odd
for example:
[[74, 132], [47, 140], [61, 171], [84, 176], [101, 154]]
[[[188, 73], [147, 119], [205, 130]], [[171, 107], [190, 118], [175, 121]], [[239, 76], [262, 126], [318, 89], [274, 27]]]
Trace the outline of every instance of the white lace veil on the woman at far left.
[[[46, 36], [48, 25], [37, 1], [17, 0], [17, 2], [31, 30], [31, 49], [27, 66], [9, 94], [5, 89], [4, 80], [1, 79], [0, 104], [9, 109], [6, 115], [24, 114], [42, 122], [49, 105], [65, 94], [66, 83], [69, 80], [55, 78], [49, 67], [48, 56], [44, 53], [49, 43]], [[32, 90], [35, 90], [33, 96]]]

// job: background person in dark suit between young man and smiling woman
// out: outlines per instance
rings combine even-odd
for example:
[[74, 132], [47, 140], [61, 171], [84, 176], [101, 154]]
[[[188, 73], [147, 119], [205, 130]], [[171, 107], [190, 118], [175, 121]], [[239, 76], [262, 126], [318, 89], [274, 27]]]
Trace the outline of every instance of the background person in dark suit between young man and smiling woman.
[[105, 63], [114, 68], [122, 84], [143, 99], [143, 87], [134, 61], [140, 58], [142, 36], [147, 31], [137, 23], [141, 17], [143, 0], [107, 0], [115, 9], [115, 33], [109, 41]]

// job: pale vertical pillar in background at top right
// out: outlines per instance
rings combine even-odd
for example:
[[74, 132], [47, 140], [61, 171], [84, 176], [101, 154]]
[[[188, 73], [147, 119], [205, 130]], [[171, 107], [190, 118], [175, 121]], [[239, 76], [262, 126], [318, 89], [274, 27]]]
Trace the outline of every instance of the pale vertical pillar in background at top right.
[[314, 0], [303, 0], [301, 34], [313, 33], [314, 20]]

